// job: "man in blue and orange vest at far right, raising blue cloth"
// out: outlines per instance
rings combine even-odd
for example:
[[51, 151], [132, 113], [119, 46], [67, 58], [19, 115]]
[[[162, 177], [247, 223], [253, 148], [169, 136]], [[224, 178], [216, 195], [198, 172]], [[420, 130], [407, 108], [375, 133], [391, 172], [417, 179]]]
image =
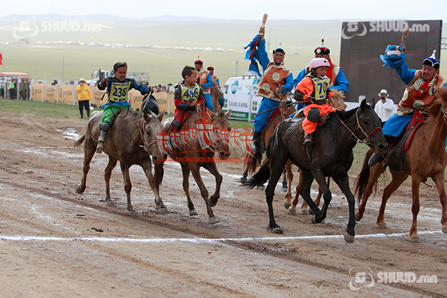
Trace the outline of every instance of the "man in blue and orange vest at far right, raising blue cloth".
[[[404, 132], [416, 110], [426, 110], [432, 105], [439, 88], [447, 87], [439, 75], [439, 61], [435, 53], [436, 50], [431, 57], [424, 59], [423, 68], [419, 70], [408, 68], [402, 46], [388, 45], [385, 54], [380, 56], [386, 66], [395, 68], [397, 75], [406, 84], [404, 96], [397, 107], [397, 115], [383, 124], [383, 135], [388, 143]], [[382, 158], [374, 153], [369, 158], [368, 165], [372, 167], [382, 161]]]

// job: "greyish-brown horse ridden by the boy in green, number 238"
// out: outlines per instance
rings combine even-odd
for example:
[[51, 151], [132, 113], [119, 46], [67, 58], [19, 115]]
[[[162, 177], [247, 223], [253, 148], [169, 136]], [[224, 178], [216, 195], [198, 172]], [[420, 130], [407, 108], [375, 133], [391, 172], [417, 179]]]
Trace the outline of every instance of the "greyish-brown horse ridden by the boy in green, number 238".
[[[125, 116], [122, 116], [122, 115]], [[98, 144], [98, 136], [101, 125], [103, 112], [94, 113], [87, 124], [87, 132], [82, 135], [74, 144], [79, 147], [84, 143], [84, 167], [82, 169], [83, 176], [80, 186], [76, 188], [77, 193], [84, 193], [86, 188], [87, 173], [90, 169], [91, 158], [96, 151]], [[131, 179], [129, 177], [129, 167], [131, 165], [140, 165], [144, 170], [149, 185], [155, 195], [156, 211], [159, 214], [168, 213], [168, 209], [163, 204], [159, 195], [159, 188], [156, 178], [152, 175], [151, 155], [154, 158], [163, 158], [157, 145], [157, 134], [161, 132], [161, 119], [163, 113], [159, 117], [153, 112], [136, 112], [134, 110], [122, 111], [115, 118], [115, 122], [105, 137], [103, 152], [109, 156], [109, 162], [105, 167], [105, 204], [114, 206], [114, 202], [110, 198], [110, 176], [112, 170], [117, 165], [121, 166], [121, 172], [124, 178], [124, 190], [127, 196], [127, 214], [136, 216], [135, 210], [131, 204]], [[156, 177], [159, 173], [155, 173]]]

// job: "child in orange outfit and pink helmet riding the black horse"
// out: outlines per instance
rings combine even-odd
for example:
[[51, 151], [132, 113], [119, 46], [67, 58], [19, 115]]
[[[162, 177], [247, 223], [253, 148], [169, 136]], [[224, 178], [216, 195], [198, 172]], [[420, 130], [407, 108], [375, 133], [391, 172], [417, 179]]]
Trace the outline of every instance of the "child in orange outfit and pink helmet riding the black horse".
[[330, 79], [326, 76], [330, 68], [330, 62], [325, 58], [314, 58], [309, 64], [310, 73], [298, 83], [295, 89], [295, 100], [305, 100], [303, 113], [306, 119], [302, 121], [302, 129], [305, 131], [305, 146], [312, 147], [314, 140], [312, 134], [316, 129], [316, 122], [323, 114], [333, 112], [329, 105], [334, 94], [329, 89]]

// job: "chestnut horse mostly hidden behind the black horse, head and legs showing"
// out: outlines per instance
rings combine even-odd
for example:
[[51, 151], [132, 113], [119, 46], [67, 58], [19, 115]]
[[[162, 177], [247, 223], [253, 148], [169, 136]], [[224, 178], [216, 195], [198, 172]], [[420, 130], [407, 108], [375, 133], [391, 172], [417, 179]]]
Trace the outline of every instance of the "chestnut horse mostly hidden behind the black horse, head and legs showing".
[[[339, 91], [339, 90], [332, 90], [332, 93], [334, 94], [334, 98], [332, 98], [332, 105], [334, 107], [339, 108], [339, 110], [346, 110], [346, 103], [344, 103], [344, 94], [343, 91]], [[296, 186], [296, 193], [295, 193], [295, 198], [293, 198], [292, 200], [292, 191], [291, 191], [291, 183], [293, 181], [293, 172], [291, 170], [292, 168], [292, 162], [288, 161], [286, 163], [286, 170], [287, 170], [287, 181], [288, 181], [288, 187], [287, 187], [287, 193], [284, 197], [284, 207], [286, 209], [288, 209], [288, 214], [291, 215], [295, 215], [296, 214], [296, 205], [298, 204], [298, 199], [300, 197], [300, 191], [301, 191], [301, 187], [302, 187], [302, 171], [298, 170], [298, 172], [300, 173], [300, 180], [298, 181], [298, 185]], [[316, 206], [320, 206], [320, 201], [321, 201], [321, 195], [323, 195], [323, 191], [321, 190], [321, 187], [318, 187], [318, 195], [316, 196], [315, 199], [315, 204]], [[312, 209], [310, 209], [307, 206], [307, 203], [305, 200], [302, 200], [302, 204], [301, 204], [301, 214], [312, 214]]]

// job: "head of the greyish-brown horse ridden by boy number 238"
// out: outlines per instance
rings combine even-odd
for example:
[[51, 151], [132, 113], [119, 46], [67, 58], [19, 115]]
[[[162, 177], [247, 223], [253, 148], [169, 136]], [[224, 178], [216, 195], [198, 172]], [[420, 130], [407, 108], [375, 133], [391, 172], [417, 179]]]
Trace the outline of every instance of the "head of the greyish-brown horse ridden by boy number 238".
[[163, 114], [164, 111], [157, 117], [157, 115], [151, 111], [144, 111], [142, 113], [142, 116], [145, 119], [144, 130], [142, 131], [143, 143], [145, 148], [149, 150], [149, 153], [157, 159], [164, 157], [157, 144], [157, 135], [161, 133], [161, 119], [163, 119]]

